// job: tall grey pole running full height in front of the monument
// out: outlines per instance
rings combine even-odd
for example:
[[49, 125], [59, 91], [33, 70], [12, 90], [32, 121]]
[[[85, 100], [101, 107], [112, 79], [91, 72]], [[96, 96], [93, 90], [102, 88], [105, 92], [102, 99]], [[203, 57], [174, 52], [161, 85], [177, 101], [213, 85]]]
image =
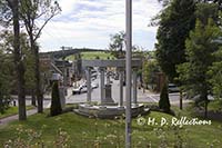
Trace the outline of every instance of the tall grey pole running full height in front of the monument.
[[132, 0], [125, 0], [127, 91], [125, 91], [125, 148], [131, 148], [131, 59], [132, 59]]

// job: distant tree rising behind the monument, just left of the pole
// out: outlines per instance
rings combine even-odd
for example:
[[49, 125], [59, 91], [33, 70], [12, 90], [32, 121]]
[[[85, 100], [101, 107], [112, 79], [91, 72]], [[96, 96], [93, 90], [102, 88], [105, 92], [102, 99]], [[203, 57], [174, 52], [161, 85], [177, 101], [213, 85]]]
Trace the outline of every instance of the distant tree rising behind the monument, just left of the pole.
[[119, 33], [111, 34], [111, 43], [109, 45], [109, 49], [111, 53], [117, 58], [123, 58], [123, 47], [124, 47], [124, 37], [125, 33], [120, 31]]

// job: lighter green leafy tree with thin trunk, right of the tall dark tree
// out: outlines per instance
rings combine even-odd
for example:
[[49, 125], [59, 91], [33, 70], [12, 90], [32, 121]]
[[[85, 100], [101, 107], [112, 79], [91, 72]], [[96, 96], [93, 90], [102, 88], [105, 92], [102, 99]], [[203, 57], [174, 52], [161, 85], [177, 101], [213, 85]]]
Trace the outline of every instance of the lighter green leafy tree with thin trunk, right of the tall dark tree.
[[204, 102], [208, 117], [208, 96], [211, 92], [208, 71], [213, 63], [212, 53], [218, 50], [218, 45], [213, 42], [220, 36], [220, 28], [216, 27], [213, 19], [209, 18], [208, 24], [196, 20], [195, 29], [190, 32], [185, 42], [185, 55], [188, 62], [179, 66], [179, 79], [183, 82], [183, 88], [191, 97], [199, 97], [196, 105]]

